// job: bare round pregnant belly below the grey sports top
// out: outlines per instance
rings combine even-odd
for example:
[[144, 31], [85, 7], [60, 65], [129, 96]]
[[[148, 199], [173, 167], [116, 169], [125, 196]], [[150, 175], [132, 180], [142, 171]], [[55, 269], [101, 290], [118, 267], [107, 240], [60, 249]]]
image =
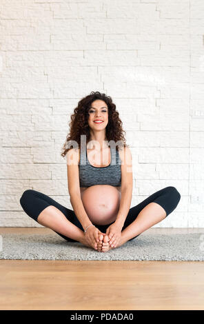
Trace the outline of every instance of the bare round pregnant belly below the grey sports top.
[[92, 185], [81, 196], [89, 219], [96, 225], [106, 225], [116, 220], [121, 192], [112, 185]]

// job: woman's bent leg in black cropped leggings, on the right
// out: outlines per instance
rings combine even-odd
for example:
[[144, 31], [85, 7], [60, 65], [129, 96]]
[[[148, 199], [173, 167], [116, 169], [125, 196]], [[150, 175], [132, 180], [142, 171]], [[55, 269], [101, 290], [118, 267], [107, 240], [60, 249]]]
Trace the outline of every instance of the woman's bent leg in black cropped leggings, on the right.
[[[166, 187], [130, 208], [122, 228], [122, 244], [159, 223], [178, 205], [181, 194], [174, 187]], [[110, 241], [111, 242], [111, 241]]]

